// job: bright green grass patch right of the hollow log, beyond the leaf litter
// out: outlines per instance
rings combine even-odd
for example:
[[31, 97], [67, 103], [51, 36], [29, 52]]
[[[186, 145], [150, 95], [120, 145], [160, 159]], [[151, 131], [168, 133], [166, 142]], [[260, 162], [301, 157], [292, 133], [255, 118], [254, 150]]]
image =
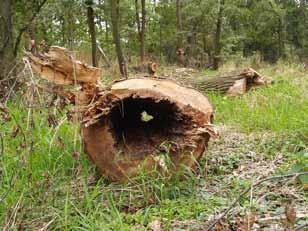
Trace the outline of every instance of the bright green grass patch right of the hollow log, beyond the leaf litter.
[[208, 94], [215, 107], [216, 123], [238, 126], [246, 132], [287, 132], [308, 137], [308, 76], [268, 73], [274, 84], [243, 96]]

